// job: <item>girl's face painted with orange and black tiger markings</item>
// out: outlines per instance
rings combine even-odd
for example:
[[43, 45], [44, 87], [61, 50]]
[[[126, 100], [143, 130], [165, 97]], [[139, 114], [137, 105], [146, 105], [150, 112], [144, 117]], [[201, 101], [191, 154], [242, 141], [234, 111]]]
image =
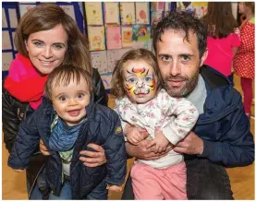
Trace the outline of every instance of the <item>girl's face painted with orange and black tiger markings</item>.
[[128, 61], [124, 66], [124, 88], [128, 98], [142, 104], [156, 94], [156, 77], [151, 65], [144, 61]]

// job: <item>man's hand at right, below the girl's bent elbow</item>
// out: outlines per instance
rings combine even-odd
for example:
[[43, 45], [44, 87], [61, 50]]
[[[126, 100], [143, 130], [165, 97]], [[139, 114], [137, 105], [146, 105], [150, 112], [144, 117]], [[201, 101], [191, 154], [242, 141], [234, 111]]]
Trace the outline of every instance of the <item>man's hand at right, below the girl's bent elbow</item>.
[[187, 137], [177, 143], [174, 150], [184, 154], [202, 154], [203, 141], [195, 133], [190, 132]]

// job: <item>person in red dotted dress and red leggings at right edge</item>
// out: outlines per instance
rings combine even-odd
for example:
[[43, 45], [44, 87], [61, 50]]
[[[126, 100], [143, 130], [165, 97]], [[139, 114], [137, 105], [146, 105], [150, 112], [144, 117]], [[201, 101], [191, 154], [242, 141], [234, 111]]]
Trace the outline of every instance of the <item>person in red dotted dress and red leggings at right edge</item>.
[[254, 2], [240, 2], [238, 12], [246, 19], [240, 25], [241, 46], [234, 59], [235, 74], [241, 77], [241, 87], [244, 92], [244, 110], [250, 118], [252, 102], [252, 80], [255, 73], [255, 18]]

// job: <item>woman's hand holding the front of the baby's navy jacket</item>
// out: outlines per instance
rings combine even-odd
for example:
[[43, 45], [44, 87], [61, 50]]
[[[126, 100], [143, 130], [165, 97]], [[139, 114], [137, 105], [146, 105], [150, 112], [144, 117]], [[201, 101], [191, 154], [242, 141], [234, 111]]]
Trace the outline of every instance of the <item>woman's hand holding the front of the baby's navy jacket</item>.
[[97, 167], [103, 165], [106, 162], [104, 149], [101, 146], [92, 143], [90, 143], [88, 147], [96, 151], [81, 150], [79, 154], [88, 157], [79, 157], [79, 160], [83, 161], [83, 164], [88, 167]]

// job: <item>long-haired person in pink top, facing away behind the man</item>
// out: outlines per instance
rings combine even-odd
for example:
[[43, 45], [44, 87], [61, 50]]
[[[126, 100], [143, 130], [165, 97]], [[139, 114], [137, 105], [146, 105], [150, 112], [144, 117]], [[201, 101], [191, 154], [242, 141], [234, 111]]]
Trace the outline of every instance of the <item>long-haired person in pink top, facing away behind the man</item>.
[[240, 37], [231, 2], [209, 2], [208, 12], [202, 20], [208, 25], [208, 56], [204, 64], [233, 82], [232, 63], [240, 46]]

